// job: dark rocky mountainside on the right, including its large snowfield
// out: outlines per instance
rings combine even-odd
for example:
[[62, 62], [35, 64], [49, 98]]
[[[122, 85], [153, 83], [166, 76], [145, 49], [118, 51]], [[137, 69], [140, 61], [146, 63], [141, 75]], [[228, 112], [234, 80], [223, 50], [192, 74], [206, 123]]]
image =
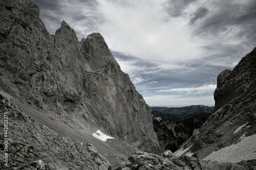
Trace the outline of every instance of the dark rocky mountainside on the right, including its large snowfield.
[[180, 151], [183, 154], [194, 154], [204, 160], [240, 162], [254, 159], [255, 162], [255, 75], [256, 48], [243, 57], [232, 71], [221, 72], [214, 93], [215, 111], [182, 144]]

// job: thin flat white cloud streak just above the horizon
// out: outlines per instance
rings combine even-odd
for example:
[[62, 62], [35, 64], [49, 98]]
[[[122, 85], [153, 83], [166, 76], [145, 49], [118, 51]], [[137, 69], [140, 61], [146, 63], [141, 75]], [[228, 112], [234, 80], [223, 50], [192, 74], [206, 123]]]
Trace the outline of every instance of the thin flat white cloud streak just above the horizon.
[[186, 92], [187, 94], [202, 94], [202, 93], [208, 93], [213, 92], [216, 89], [217, 85], [204, 85], [200, 87], [190, 87], [190, 88], [172, 88], [172, 89], [164, 89], [164, 90], [158, 90], [157, 92], [178, 92], [183, 93]]

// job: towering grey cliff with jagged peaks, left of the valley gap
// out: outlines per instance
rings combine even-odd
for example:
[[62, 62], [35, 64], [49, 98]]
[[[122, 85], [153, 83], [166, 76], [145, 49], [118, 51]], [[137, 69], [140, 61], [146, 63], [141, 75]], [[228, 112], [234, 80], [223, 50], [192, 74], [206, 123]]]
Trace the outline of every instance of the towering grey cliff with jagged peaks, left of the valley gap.
[[88, 133], [100, 129], [142, 151], [159, 153], [151, 109], [99, 33], [78, 42], [62, 21], [50, 35], [29, 1], [2, 1], [0, 8], [5, 91], [71, 127]]

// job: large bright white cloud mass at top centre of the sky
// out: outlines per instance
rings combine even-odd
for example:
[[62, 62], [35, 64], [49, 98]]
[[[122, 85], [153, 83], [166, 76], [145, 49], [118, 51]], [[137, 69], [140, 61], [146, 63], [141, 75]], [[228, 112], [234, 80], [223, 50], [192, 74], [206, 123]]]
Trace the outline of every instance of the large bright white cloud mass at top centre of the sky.
[[101, 33], [112, 50], [162, 63], [201, 56], [189, 35], [179, 33], [172, 20], [166, 20], [167, 1], [98, 2], [105, 19]]

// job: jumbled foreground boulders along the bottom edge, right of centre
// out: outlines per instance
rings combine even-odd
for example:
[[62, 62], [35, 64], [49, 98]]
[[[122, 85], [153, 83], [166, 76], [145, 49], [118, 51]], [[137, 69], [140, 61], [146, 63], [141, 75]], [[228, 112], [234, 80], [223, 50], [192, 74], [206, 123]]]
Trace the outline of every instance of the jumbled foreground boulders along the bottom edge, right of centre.
[[136, 152], [127, 161], [117, 163], [108, 170], [151, 170], [151, 169], [197, 169], [197, 170], [242, 170], [244, 166], [232, 163], [219, 163], [214, 161], [202, 161], [194, 157], [174, 156], [172, 152], [166, 151], [161, 156], [145, 152]]

